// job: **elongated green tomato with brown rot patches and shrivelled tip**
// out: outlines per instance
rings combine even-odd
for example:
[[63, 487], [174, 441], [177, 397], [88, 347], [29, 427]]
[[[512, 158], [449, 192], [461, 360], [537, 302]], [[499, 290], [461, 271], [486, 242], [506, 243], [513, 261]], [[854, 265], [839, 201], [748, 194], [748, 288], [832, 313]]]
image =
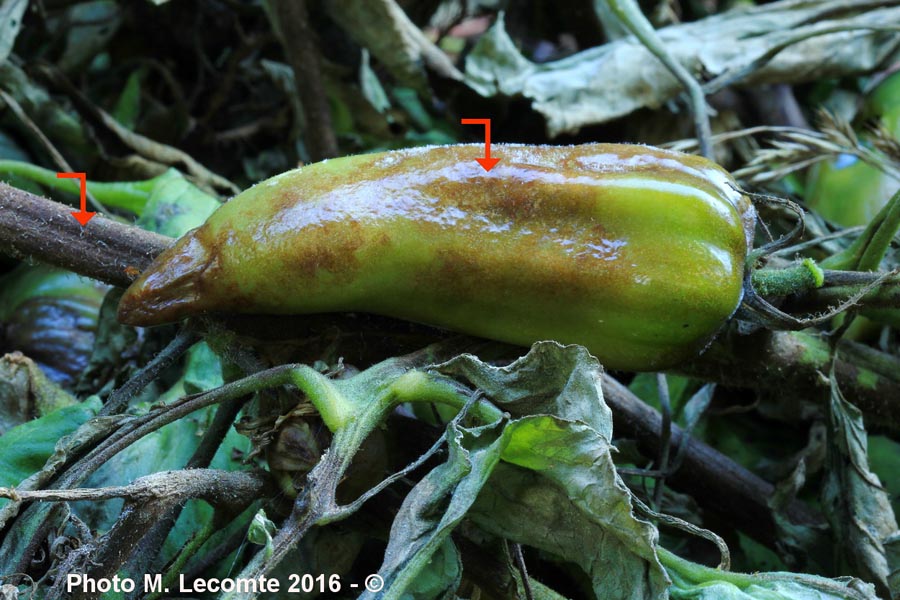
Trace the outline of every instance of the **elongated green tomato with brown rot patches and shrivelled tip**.
[[742, 297], [755, 222], [723, 169], [646, 146], [495, 145], [350, 156], [236, 196], [126, 291], [119, 319], [369, 312], [609, 368], [700, 352]]

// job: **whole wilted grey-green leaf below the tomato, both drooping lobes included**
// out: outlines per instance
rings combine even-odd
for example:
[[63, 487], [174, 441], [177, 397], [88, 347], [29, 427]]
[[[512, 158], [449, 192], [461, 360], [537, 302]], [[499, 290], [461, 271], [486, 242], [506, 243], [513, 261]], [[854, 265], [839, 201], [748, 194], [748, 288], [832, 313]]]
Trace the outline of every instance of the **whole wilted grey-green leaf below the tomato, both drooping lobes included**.
[[[448, 426], [447, 462], [413, 489], [391, 529], [380, 570], [385, 597], [411, 593], [466, 515], [489, 533], [580, 565], [601, 597], [665, 593], [656, 530], [632, 514], [630, 492], [612, 463], [612, 416], [595, 358], [579, 346], [541, 342], [507, 367], [463, 355], [433, 371], [473, 385], [508, 414], [522, 416], [508, 424]], [[452, 590], [455, 568], [441, 574]]]

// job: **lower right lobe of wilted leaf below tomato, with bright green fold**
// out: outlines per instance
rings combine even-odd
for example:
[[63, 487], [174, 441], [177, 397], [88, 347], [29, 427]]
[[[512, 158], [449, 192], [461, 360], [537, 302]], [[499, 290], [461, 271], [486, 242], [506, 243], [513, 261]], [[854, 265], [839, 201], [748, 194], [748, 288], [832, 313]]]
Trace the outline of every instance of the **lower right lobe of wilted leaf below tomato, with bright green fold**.
[[[501, 465], [472, 518], [495, 535], [579, 565], [598, 597], [659, 596], [668, 579], [655, 557], [657, 532], [632, 514], [608, 442], [583, 424], [554, 421], [526, 417], [510, 424], [504, 461], [538, 470]], [[529, 453], [527, 440], [537, 431], [550, 439]]]

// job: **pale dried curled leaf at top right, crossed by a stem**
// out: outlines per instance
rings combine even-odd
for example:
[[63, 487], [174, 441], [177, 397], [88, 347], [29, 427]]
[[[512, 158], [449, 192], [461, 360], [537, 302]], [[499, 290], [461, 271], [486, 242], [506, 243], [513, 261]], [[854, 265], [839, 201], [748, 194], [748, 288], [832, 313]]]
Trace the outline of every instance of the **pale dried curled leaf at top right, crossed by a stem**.
[[[900, 46], [900, 34], [863, 27], [900, 22], [900, 7], [866, 10], [870, 4], [782, 0], [658, 33], [671, 55], [693, 73], [719, 76], [752, 65], [741, 83], [799, 83], [871, 71], [890, 60]], [[814, 35], [836, 27], [847, 30]], [[754, 64], [773, 48], [805, 36], [813, 37], [787, 46], [764, 64]], [[639, 108], [658, 108], [682, 91], [668, 69], [634, 37], [536, 64], [516, 48], [502, 18], [469, 55], [466, 83], [487, 97], [528, 98], [544, 115], [551, 136]]]

